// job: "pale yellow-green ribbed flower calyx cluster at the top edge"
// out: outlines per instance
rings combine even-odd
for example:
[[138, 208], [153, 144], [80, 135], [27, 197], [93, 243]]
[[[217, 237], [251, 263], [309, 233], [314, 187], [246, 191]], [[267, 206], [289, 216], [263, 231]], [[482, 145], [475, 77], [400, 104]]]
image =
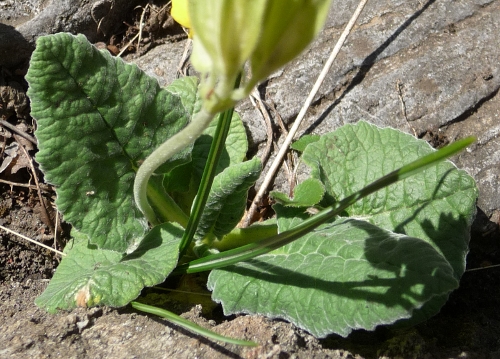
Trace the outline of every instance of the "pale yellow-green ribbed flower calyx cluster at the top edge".
[[[208, 75], [204, 97], [224, 99], [244, 65], [250, 74], [233, 100], [246, 97], [273, 71], [292, 60], [323, 26], [331, 0], [189, 0], [194, 36], [191, 61]], [[221, 91], [222, 90], [222, 91]]]

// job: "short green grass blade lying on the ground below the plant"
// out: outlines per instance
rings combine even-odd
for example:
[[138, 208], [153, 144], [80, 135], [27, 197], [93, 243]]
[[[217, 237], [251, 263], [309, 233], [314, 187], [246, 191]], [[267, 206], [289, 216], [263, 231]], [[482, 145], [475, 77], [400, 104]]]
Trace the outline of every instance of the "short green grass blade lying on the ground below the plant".
[[157, 315], [159, 317], [167, 319], [170, 323], [178, 325], [186, 330], [189, 330], [192, 333], [204, 336], [208, 339], [219, 340], [221, 342], [236, 344], [236, 345], [245, 345], [245, 346], [257, 346], [258, 344], [255, 342], [241, 340], [241, 339], [233, 339], [229, 337], [225, 337], [223, 335], [217, 334], [211, 330], [202, 328], [189, 320], [179, 317], [177, 314], [169, 312], [168, 310], [153, 307], [151, 305], [139, 303], [139, 302], [131, 302], [130, 303], [134, 309], [140, 310], [141, 312], [146, 312], [150, 314]]

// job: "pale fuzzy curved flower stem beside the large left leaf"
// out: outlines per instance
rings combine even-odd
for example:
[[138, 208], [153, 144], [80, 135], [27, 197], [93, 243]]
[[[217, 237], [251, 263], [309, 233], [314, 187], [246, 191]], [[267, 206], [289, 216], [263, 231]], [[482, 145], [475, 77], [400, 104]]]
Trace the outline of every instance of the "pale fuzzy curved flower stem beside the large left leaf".
[[192, 144], [207, 128], [214, 116], [215, 113], [202, 107], [182, 131], [162, 143], [139, 167], [134, 181], [134, 199], [137, 207], [151, 224], [158, 224], [158, 220], [147, 199], [149, 179], [158, 167]]

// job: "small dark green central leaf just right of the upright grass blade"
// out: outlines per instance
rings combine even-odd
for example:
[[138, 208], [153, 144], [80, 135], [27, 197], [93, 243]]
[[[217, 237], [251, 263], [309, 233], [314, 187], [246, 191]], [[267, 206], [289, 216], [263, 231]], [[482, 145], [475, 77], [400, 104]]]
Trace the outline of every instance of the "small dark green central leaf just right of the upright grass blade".
[[214, 178], [195, 239], [212, 234], [222, 238], [238, 224], [245, 212], [247, 192], [259, 178], [258, 158], [226, 168]]

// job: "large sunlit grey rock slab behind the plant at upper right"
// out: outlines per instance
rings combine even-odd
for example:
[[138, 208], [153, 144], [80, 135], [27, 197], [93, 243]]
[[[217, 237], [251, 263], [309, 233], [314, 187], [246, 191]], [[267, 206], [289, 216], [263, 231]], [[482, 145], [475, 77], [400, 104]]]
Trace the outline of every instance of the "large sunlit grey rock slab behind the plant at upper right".
[[[347, 4], [353, 9], [357, 1], [343, 7]], [[421, 134], [498, 89], [498, 1], [368, 4], [317, 96], [307, 127], [315, 124], [325, 132], [367, 119], [406, 131], [409, 122]], [[298, 112], [322, 67], [318, 58], [327, 58], [342, 31], [339, 19], [347, 22], [351, 12], [334, 9], [311, 49], [270, 81], [267, 95], [281, 104], [285, 119]]]

